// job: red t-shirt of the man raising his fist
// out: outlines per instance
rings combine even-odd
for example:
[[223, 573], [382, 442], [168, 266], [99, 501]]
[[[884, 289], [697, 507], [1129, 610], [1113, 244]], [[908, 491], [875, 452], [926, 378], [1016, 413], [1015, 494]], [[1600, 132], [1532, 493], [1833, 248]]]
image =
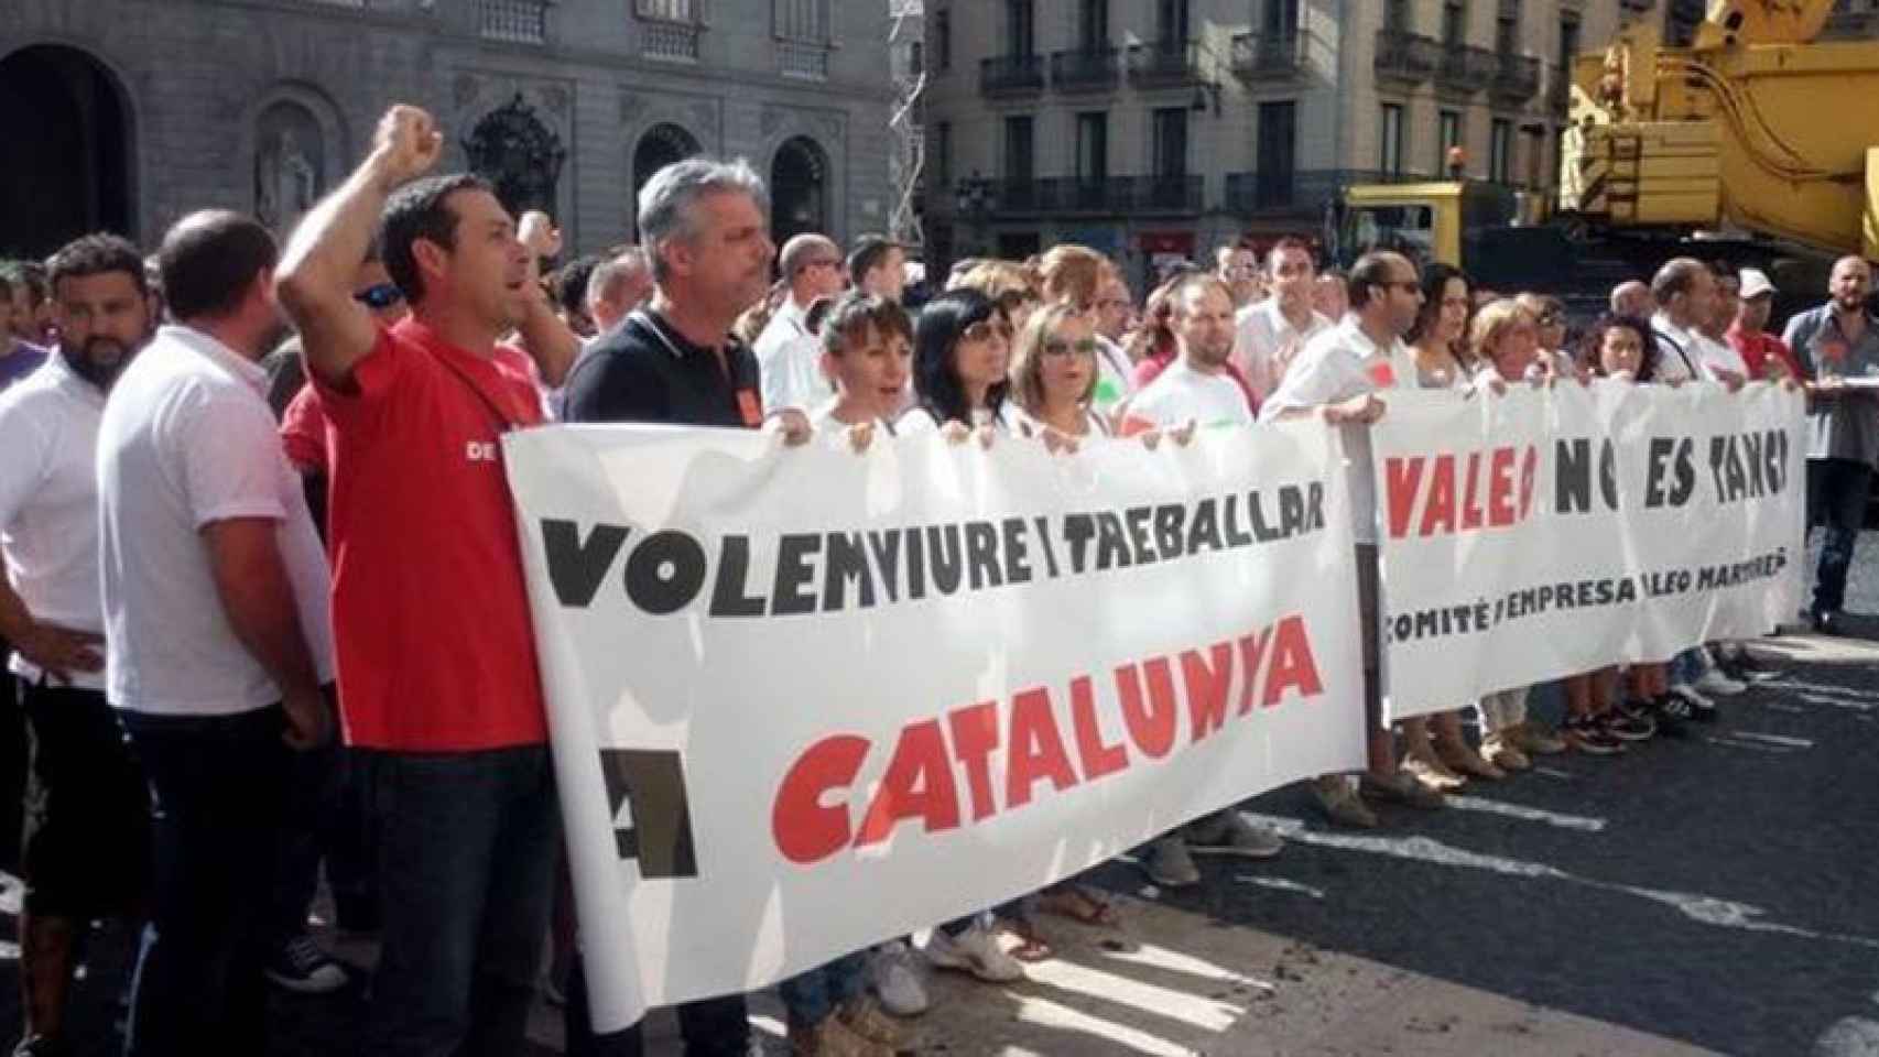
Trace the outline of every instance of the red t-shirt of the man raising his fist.
[[[541, 421], [526, 357], [417, 319], [380, 330], [331, 422], [333, 631], [346, 743], [417, 753], [547, 740], [507, 426]], [[455, 368], [455, 370], [453, 370]]]

